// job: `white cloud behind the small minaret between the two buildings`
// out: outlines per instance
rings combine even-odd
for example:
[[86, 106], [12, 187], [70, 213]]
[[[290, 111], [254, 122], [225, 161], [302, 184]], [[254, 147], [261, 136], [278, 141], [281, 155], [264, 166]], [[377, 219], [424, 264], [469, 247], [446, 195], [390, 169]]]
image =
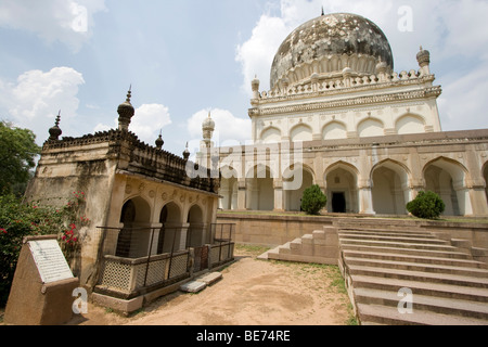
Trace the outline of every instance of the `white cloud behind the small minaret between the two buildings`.
[[[188, 120], [188, 131], [195, 143], [203, 138], [202, 123], [208, 117], [209, 110], [201, 110], [193, 114]], [[251, 119], [235, 117], [230, 111], [211, 108], [211, 119], [215, 121], [213, 140], [217, 146], [239, 144], [251, 140]]]

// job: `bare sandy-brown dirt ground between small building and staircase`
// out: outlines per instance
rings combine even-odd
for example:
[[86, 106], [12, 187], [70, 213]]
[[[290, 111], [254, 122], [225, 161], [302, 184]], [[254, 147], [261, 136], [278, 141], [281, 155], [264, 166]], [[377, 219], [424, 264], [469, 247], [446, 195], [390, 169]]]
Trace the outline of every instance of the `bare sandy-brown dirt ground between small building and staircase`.
[[68, 325], [346, 325], [351, 306], [338, 268], [257, 260], [237, 246], [222, 279], [197, 294], [176, 292], [131, 317], [89, 305]]

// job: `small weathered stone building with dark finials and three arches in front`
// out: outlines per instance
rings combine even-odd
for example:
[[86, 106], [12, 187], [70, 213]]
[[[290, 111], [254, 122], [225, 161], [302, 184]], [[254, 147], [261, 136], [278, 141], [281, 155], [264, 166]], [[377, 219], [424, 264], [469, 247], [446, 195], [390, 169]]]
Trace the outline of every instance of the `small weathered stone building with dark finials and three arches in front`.
[[[140, 265], [149, 267], [151, 256], [167, 260], [159, 261], [159, 280], [151, 283], [164, 284], [192, 270], [190, 249], [211, 248], [219, 178], [195, 166], [187, 152], [179, 157], [164, 151], [160, 137], [152, 146], [128, 131], [134, 115], [130, 92], [118, 114], [118, 129], [81, 138], [60, 139], [57, 118], [26, 198], [61, 207], [73, 193], [82, 194], [79, 215], [89, 223], [77, 227], [81, 254], [72, 265], [75, 275], [90, 288], [103, 284], [107, 291], [130, 296], [149, 285], [147, 272]], [[193, 175], [195, 170], [208, 175]], [[231, 235], [228, 231], [226, 235], [230, 244]], [[228, 252], [226, 259], [231, 257]], [[222, 257], [214, 257], [213, 262], [220, 260]], [[138, 280], [141, 275], [142, 282]], [[127, 286], [117, 287], [116, 283]]]

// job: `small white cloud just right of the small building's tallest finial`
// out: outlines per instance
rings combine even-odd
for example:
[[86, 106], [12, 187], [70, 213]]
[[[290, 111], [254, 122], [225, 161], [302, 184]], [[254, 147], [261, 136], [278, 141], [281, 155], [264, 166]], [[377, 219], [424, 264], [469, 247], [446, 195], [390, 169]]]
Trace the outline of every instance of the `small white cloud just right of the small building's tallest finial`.
[[170, 124], [168, 107], [160, 104], [143, 104], [136, 110], [129, 130], [136, 133], [141, 141], [153, 145], [159, 131]]

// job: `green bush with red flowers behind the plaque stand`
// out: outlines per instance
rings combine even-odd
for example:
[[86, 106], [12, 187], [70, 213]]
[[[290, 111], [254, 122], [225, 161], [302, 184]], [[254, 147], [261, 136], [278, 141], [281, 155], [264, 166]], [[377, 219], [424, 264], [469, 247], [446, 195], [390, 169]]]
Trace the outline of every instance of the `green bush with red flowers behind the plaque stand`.
[[63, 207], [24, 204], [14, 195], [0, 195], [0, 307], [7, 304], [23, 240], [26, 236], [59, 235], [60, 246], [70, 261], [79, 252], [78, 229], [89, 220], [79, 217], [85, 194], [74, 197]]

